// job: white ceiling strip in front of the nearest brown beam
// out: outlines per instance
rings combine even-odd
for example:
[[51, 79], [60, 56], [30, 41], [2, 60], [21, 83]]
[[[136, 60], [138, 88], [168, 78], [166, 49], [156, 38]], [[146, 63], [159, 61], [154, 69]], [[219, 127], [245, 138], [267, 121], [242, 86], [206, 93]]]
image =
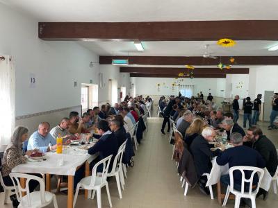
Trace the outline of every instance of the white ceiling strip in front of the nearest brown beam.
[[278, 19], [277, 0], [0, 0], [38, 21]]

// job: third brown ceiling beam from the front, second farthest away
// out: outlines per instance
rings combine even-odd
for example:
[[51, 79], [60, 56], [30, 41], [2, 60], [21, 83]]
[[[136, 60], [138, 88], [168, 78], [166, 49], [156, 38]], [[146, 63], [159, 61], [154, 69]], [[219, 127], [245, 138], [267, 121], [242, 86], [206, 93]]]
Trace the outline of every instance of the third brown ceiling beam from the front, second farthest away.
[[195, 68], [193, 70], [186, 68], [166, 68], [166, 67], [120, 67], [120, 72], [125, 73], [184, 73], [193, 71], [194, 74], [248, 74], [249, 68]]

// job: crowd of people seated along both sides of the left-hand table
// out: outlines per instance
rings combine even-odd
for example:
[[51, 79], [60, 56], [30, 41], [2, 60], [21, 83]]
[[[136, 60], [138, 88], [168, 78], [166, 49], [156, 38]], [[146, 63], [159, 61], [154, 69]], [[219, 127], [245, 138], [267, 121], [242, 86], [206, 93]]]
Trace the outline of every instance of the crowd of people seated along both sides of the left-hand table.
[[[8, 144], [3, 154], [1, 174], [4, 184], [13, 186], [13, 181], [9, 176], [12, 169], [19, 164], [26, 163], [27, 158], [33, 153], [55, 151], [57, 137], [63, 138], [64, 145], [70, 144], [72, 137], [81, 134], [85, 136], [87, 141], [92, 137], [98, 139], [97, 143], [88, 149], [88, 154], [99, 153], [97, 159], [91, 162], [90, 168], [92, 169], [101, 159], [113, 155], [110, 163], [112, 168], [113, 158], [117, 155], [118, 148], [127, 138], [133, 137], [133, 135], [129, 134], [132, 132], [133, 126], [138, 122], [138, 132], [145, 130], [145, 124], [142, 119], [150, 107], [152, 107], [152, 98], [142, 98], [142, 96], [131, 98], [126, 96], [123, 102], [115, 103], [113, 107], [109, 103], [101, 105], [100, 108], [96, 106], [88, 109], [87, 112], [83, 112], [81, 117], [78, 112], [70, 112], [69, 117], [61, 119], [60, 123], [53, 128], [47, 121], [42, 121], [38, 125], [38, 130], [33, 132], [30, 137], [28, 137], [28, 128], [18, 126], [15, 128], [10, 144]], [[92, 132], [95, 133], [92, 134]], [[140, 143], [140, 135], [137, 137], [137, 141]], [[126, 152], [129, 152], [128, 155], [131, 157], [134, 155], [132, 146], [131, 149], [125, 150]], [[132, 158], [128, 160], [131, 162]], [[82, 179], [84, 171], [84, 165], [76, 171], [74, 189]], [[41, 175], [37, 176], [42, 177]], [[37, 182], [31, 182], [30, 191], [32, 192], [37, 186]], [[12, 195], [10, 199], [13, 201], [14, 207], [17, 207], [16, 196]]]

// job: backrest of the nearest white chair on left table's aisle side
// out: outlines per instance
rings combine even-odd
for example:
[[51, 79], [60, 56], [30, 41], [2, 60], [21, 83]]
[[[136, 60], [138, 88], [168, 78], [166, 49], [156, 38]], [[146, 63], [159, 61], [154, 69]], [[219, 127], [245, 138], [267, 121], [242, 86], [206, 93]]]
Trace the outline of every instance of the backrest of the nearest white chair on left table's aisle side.
[[101, 159], [101, 161], [97, 162], [97, 164], [95, 164], [95, 166], [92, 168], [92, 178], [91, 178], [91, 182], [90, 182], [90, 187], [95, 187], [95, 182], [96, 182], [96, 178], [97, 178], [97, 167], [100, 166], [101, 164], [103, 165], [101, 176], [100, 176], [101, 184], [106, 182], [109, 164], [111, 162], [112, 157], [113, 157], [113, 155], [109, 155], [108, 157]]

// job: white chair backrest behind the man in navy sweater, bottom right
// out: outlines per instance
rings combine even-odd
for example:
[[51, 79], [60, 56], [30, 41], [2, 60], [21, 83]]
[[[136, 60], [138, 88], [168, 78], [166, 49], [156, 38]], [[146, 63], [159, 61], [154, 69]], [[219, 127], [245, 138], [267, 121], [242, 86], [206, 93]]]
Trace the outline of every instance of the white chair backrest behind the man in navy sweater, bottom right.
[[[230, 190], [231, 191], [235, 191], [235, 189], [234, 189], [234, 174], [233, 174], [234, 171], [240, 171], [240, 173], [241, 173], [241, 190], [240, 190], [240, 192], [242, 194], [245, 193], [245, 182], [249, 183], [249, 191], [248, 191], [249, 195], [251, 195], [251, 193], [258, 193], [259, 187], [260, 187], [260, 184], [261, 184], [261, 180], [263, 178], [263, 173], [264, 173], [263, 169], [252, 167], [252, 166], [234, 166], [234, 167], [229, 168]], [[244, 171], [252, 172], [249, 179], [247, 179], [245, 177], [245, 172]], [[256, 173], [258, 173], [259, 182], [256, 186], [256, 189], [254, 191], [252, 191], [254, 175]]]

